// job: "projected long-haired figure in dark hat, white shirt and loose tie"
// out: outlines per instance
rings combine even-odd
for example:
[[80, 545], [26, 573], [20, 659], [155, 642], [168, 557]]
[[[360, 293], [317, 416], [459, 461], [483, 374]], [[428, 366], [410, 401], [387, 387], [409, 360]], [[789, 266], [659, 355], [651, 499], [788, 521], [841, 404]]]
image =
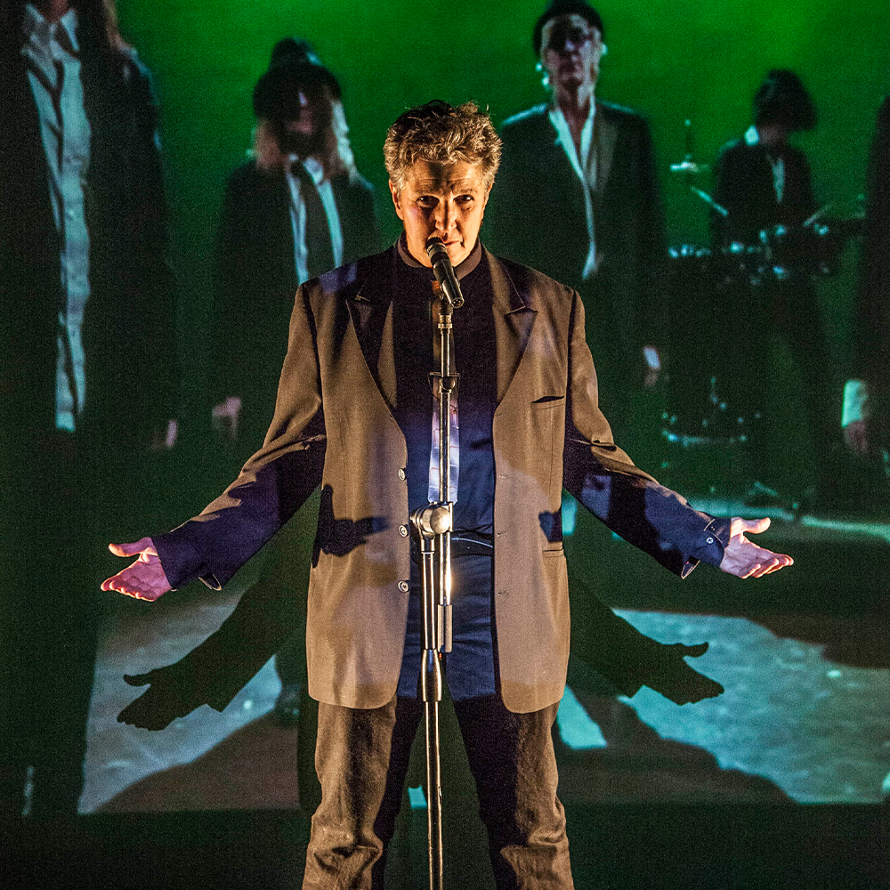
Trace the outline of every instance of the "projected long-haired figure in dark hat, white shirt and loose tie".
[[[296, 288], [383, 246], [372, 188], [352, 157], [340, 85], [309, 44], [286, 37], [275, 45], [255, 86], [254, 112], [254, 158], [231, 174], [223, 200], [214, 287], [214, 418], [236, 441], [239, 464], [271, 421]], [[304, 602], [318, 506], [311, 498], [276, 538], [260, 585], [295, 593], [299, 579]], [[303, 710], [300, 798], [312, 812], [315, 721], [304, 627], [275, 665], [279, 723], [297, 724]]]

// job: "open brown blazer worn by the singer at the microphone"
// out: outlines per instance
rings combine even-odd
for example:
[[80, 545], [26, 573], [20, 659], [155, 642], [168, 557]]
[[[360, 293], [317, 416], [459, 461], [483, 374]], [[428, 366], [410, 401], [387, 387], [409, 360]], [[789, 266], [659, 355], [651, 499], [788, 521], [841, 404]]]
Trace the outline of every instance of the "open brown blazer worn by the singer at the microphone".
[[[483, 252], [494, 290], [495, 623], [507, 708], [562, 696], [569, 595], [563, 486], [677, 574], [711, 522], [637, 469], [611, 441], [578, 294]], [[398, 684], [410, 549], [405, 438], [392, 414], [396, 250], [301, 287], [275, 416], [239, 478], [190, 522], [156, 539], [174, 587], [224, 583], [320, 483], [308, 603], [313, 698], [376, 708]], [[480, 344], [484, 348], [485, 344]], [[212, 576], [212, 577], [211, 577]], [[251, 621], [269, 609], [247, 611]]]

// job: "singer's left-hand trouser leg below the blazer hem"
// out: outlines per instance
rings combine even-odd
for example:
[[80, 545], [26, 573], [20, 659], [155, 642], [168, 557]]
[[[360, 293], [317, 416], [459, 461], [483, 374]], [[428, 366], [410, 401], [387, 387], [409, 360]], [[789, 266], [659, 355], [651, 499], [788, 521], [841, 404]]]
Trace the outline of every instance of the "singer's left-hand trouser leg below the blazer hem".
[[414, 699], [368, 709], [320, 703], [321, 802], [312, 816], [303, 890], [383, 887], [386, 845], [422, 708]]

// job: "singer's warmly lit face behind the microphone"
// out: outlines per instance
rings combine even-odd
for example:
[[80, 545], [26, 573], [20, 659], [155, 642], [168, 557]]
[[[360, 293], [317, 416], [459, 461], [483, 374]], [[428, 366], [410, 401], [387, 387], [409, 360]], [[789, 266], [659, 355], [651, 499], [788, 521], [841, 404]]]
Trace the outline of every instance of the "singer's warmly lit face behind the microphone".
[[404, 177], [401, 192], [390, 181], [392, 203], [405, 224], [408, 249], [418, 263], [430, 266], [426, 241], [442, 239], [451, 263], [462, 263], [475, 247], [490, 185], [481, 166], [458, 161], [433, 164], [417, 161]]

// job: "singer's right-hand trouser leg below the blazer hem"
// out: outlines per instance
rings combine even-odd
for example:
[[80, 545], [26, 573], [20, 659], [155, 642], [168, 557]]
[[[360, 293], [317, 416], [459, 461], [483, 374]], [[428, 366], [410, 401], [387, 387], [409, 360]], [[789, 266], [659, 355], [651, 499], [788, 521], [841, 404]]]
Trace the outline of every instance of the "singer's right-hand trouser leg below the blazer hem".
[[569, 841], [550, 734], [558, 704], [514, 714], [499, 696], [486, 696], [454, 707], [498, 890], [570, 890]]

